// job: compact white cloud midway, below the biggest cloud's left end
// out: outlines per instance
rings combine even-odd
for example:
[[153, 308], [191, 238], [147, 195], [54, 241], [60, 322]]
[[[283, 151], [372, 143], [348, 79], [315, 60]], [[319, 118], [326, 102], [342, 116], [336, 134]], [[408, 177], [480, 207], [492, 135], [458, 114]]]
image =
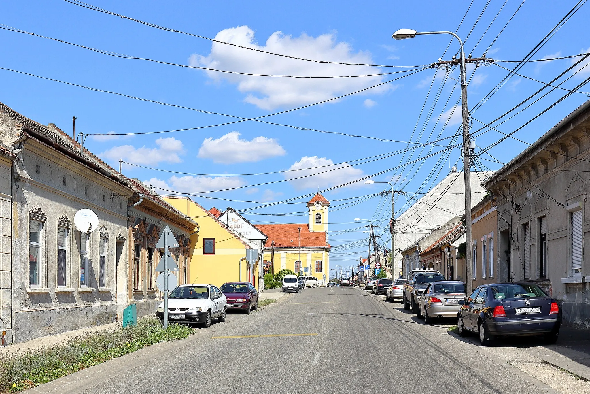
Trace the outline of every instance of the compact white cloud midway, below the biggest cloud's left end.
[[260, 161], [284, 154], [285, 149], [274, 138], [260, 136], [247, 141], [240, 139], [239, 132], [232, 131], [218, 139], [205, 138], [198, 156], [212, 159], [216, 163], [235, 164]]

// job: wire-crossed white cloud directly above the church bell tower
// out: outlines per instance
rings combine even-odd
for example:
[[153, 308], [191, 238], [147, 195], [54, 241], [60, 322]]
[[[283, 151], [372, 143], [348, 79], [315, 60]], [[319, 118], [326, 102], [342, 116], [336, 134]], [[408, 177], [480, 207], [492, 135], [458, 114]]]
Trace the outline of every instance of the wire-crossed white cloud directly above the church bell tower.
[[[342, 185], [356, 181], [365, 175], [360, 168], [352, 167], [352, 165], [348, 163], [333, 164], [334, 162], [331, 159], [325, 157], [304, 156], [289, 168], [289, 170], [301, 171], [283, 172], [283, 176], [286, 180], [289, 180], [289, 183], [293, 185], [294, 188], [301, 190], [305, 188], [317, 188], [318, 186], [326, 188]], [[350, 184], [348, 186], [362, 184], [362, 181], [359, 181], [358, 183]]]

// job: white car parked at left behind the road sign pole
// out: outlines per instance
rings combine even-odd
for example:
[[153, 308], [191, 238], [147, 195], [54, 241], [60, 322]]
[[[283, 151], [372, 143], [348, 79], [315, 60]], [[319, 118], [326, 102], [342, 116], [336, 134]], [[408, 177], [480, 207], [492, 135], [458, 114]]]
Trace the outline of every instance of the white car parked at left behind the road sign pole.
[[[180, 285], [168, 295], [168, 320], [211, 325], [218, 318], [225, 321], [227, 298], [214, 285]], [[164, 302], [158, 306], [156, 317], [164, 320]]]

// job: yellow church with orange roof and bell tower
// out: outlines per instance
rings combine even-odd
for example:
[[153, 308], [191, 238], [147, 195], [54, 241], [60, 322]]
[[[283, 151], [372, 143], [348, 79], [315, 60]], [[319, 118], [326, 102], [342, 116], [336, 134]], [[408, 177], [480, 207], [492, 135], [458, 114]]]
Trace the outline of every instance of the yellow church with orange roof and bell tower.
[[327, 283], [330, 272], [330, 245], [327, 243], [329, 206], [329, 201], [317, 193], [307, 203], [308, 223], [256, 226], [268, 236], [264, 244], [264, 262], [270, 263], [274, 272], [287, 268], [295, 273], [301, 271], [301, 275], [315, 276], [320, 286]]

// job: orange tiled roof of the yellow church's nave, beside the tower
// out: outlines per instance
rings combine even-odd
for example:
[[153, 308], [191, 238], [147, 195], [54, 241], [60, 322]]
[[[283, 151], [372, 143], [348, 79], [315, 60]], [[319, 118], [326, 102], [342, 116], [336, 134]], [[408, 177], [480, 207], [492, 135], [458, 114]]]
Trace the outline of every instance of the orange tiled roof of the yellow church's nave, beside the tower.
[[330, 248], [330, 245], [326, 243], [326, 233], [310, 232], [307, 223], [256, 225], [258, 230], [268, 236], [266, 246], [270, 246], [271, 242], [274, 241], [274, 246], [277, 248], [299, 248], [298, 227], [301, 227], [301, 247]]

